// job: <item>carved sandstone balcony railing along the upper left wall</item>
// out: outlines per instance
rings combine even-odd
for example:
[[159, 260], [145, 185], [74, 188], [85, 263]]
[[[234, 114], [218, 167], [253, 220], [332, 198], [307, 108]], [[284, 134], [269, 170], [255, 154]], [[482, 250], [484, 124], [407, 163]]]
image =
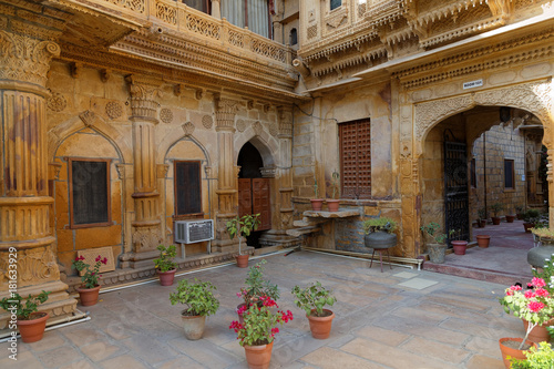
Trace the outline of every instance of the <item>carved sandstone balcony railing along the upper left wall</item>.
[[181, 2], [173, 0], [92, 0], [92, 2], [204, 39], [217, 44], [218, 48], [238, 49], [238, 52], [249, 51], [256, 57], [271, 59], [286, 65], [293, 62], [290, 48]]

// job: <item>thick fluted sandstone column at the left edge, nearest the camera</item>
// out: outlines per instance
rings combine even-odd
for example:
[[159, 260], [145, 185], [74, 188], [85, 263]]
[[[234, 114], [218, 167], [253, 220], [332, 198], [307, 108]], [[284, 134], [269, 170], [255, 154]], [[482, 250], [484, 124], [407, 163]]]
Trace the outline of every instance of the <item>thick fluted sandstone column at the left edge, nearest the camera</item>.
[[[50, 228], [54, 202], [48, 194], [48, 147], [44, 88], [53, 41], [0, 31], [0, 299], [51, 291], [40, 307], [51, 317], [75, 311], [76, 300], [60, 280], [55, 238]], [[17, 259], [17, 268], [10, 259]], [[13, 273], [13, 270], [16, 273]], [[10, 279], [16, 276], [17, 279]], [[8, 314], [0, 314], [0, 329]]]

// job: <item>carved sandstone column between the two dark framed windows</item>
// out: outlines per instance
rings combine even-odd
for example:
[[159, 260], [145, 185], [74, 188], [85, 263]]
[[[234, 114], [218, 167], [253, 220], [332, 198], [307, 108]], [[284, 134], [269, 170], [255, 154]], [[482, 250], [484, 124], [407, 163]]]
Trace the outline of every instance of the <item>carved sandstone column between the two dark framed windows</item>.
[[133, 122], [133, 181], [135, 217], [132, 225], [133, 253], [123, 255], [123, 266], [137, 268], [152, 264], [163, 240], [160, 193], [156, 180], [155, 126], [162, 82], [144, 76], [126, 78], [131, 93]]

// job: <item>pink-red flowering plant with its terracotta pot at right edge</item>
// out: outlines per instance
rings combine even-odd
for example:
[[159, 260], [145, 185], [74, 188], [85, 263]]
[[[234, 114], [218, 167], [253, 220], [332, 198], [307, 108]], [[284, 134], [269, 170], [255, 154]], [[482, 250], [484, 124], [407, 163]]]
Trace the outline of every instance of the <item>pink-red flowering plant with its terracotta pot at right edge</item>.
[[[527, 340], [530, 332], [536, 326], [543, 325], [552, 319], [554, 312], [554, 299], [545, 288], [546, 283], [542, 278], [534, 277], [525, 291], [519, 285], [506, 288], [505, 296], [500, 298], [500, 304], [506, 314], [525, 319], [527, 327], [523, 338], [501, 338], [500, 349], [506, 368], [510, 368], [509, 356], [516, 359], [525, 359], [525, 345], [527, 348], [536, 344]], [[515, 346], [513, 342], [517, 342]]]

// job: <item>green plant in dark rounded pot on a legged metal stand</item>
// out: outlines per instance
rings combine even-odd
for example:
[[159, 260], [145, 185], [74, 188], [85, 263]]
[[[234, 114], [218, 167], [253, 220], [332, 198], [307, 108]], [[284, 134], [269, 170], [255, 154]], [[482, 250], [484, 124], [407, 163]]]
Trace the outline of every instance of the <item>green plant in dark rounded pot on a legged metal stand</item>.
[[397, 222], [387, 217], [369, 218], [363, 222], [362, 227], [366, 232], [366, 235], [363, 236], [363, 245], [373, 249], [369, 267], [371, 268], [373, 266], [373, 256], [377, 250], [380, 255], [382, 271], [382, 252], [387, 250], [387, 255], [389, 255], [389, 248], [397, 246], [398, 238], [394, 234], [394, 230], [397, 229]]

